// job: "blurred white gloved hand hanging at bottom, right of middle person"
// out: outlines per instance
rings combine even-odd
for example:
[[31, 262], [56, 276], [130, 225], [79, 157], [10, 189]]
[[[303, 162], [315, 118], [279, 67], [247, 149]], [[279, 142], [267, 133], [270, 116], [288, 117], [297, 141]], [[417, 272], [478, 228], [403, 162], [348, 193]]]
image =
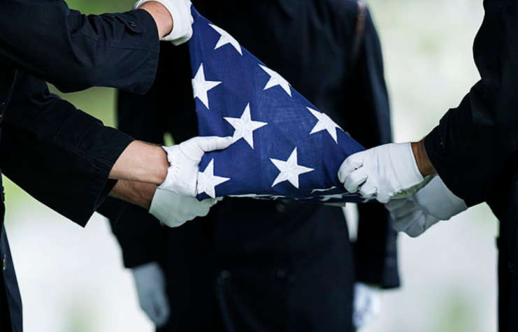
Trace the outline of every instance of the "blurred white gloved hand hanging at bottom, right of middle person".
[[381, 290], [367, 284], [354, 284], [352, 324], [357, 329], [372, 323], [381, 314]]

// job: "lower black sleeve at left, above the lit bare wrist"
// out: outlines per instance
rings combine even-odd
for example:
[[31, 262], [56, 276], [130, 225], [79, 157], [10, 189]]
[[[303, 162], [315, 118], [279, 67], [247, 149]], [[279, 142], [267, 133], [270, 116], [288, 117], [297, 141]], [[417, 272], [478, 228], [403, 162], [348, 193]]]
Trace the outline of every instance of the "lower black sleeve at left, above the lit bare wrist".
[[0, 166], [41, 203], [85, 226], [115, 181], [111, 168], [133, 138], [18, 75], [2, 125]]

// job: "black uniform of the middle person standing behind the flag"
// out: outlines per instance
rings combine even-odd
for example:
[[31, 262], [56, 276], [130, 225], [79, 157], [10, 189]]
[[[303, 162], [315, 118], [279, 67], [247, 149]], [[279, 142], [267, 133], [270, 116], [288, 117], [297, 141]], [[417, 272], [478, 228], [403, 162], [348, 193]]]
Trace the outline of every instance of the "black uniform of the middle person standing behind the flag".
[[[349, 0], [194, 5], [360, 143], [389, 143], [382, 55], [364, 6], [360, 11]], [[120, 93], [122, 131], [153, 143], [166, 132], [177, 143], [196, 135], [189, 54], [187, 47], [175, 50], [162, 45], [147, 95]], [[184, 79], [171, 82], [170, 75]], [[345, 332], [352, 331], [355, 281], [399, 284], [387, 211], [377, 203], [359, 209], [355, 245], [340, 208], [285, 201], [227, 198], [208, 217], [178, 229], [152, 224], [131, 206], [113, 229], [127, 267], [159, 261], [164, 268], [171, 319], [160, 331]]]

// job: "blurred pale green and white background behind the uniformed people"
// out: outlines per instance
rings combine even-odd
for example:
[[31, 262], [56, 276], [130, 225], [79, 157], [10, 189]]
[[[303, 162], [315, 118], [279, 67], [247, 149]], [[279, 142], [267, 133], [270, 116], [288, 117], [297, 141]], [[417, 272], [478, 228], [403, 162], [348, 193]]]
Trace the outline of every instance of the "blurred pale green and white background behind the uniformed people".
[[[98, 14], [133, 5], [127, 0], [67, 2]], [[382, 39], [395, 139], [418, 140], [478, 79], [471, 48], [482, 22], [482, 1], [368, 4]], [[115, 123], [113, 89], [60, 95], [105, 124]], [[102, 217], [83, 230], [8, 181], [6, 192], [25, 331], [153, 331]], [[495, 218], [481, 206], [434, 226], [422, 238], [400, 236], [403, 287], [384, 295], [382, 317], [364, 331], [496, 331], [496, 233]]]

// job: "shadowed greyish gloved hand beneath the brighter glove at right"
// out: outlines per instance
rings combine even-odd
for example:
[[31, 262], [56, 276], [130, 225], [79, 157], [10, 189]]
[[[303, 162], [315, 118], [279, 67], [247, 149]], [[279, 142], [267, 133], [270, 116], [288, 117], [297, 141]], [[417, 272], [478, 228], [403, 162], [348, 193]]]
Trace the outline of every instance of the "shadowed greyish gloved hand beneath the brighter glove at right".
[[440, 220], [449, 220], [468, 209], [438, 176], [410, 199], [396, 199], [385, 205], [394, 219], [394, 229], [415, 238]]

